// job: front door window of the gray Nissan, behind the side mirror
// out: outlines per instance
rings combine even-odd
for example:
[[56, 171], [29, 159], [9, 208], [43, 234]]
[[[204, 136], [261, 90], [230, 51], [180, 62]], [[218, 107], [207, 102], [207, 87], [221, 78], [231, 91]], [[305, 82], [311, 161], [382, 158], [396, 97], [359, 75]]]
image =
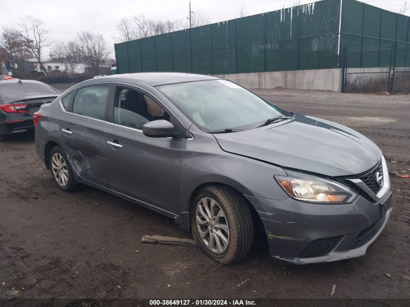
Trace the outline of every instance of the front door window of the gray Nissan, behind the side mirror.
[[117, 87], [115, 124], [142, 130], [145, 123], [157, 119], [169, 121], [169, 114], [158, 103], [139, 91]]

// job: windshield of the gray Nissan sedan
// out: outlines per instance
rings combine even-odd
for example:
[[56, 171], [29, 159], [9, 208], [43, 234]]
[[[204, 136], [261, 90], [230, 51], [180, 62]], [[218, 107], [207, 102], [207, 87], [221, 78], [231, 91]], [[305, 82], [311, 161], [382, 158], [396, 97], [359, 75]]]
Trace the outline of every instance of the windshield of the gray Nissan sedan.
[[227, 80], [185, 82], [157, 88], [206, 132], [253, 129], [268, 118], [282, 115], [279, 108]]

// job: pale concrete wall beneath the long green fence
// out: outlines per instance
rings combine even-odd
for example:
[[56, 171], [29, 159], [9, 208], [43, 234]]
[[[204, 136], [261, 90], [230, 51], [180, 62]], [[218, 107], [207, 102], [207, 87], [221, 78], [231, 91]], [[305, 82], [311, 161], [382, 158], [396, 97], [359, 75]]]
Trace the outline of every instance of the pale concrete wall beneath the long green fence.
[[247, 88], [342, 91], [342, 68], [217, 75]]

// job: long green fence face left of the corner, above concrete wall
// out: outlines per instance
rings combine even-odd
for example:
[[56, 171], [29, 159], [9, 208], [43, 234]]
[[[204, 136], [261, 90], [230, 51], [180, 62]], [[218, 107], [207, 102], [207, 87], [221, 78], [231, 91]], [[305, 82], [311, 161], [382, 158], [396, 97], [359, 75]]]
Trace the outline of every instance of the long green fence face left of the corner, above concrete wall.
[[231, 74], [337, 67], [340, 0], [115, 45], [119, 73]]

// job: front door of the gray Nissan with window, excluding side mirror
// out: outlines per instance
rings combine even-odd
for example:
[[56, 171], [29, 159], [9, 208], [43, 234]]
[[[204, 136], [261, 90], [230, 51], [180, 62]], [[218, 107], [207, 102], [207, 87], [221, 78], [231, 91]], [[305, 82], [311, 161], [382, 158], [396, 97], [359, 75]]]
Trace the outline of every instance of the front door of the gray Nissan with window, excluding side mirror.
[[177, 216], [186, 141], [150, 138], [142, 133], [148, 121], [165, 119], [178, 126], [177, 120], [148, 93], [133, 87], [116, 87], [114, 97], [110, 110], [113, 124], [105, 131], [104, 144], [110, 189]]

